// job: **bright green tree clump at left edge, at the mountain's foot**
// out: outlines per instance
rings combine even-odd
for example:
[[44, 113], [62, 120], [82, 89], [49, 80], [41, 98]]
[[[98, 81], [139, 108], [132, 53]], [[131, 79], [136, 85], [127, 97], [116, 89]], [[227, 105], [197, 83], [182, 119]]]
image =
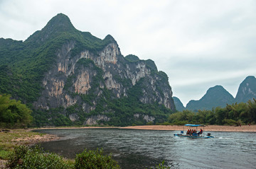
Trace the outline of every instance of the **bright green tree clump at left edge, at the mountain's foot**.
[[31, 123], [31, 110], [11, 95], [0, 95], [0, 127], [27, 127]]

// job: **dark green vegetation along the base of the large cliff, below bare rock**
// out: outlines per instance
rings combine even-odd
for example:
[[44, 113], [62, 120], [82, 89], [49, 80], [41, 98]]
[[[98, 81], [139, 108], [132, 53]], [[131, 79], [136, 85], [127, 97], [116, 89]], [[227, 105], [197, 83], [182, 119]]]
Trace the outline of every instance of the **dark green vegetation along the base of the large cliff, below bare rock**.
[[[97, 78], [97, 82], [101, 81], [100, 77]], [[110, 121], [100, 120], [98, 124], [102, 125], [113, 125], [113, 126], [129, 126], [129, 125], [143, 125], [143, 124], [158, 124], [165, 122], [171, 113], [170, 109], [166, 108], [164, 105], [159, 105], [158, 103], [143, 104], [140, 102], [139, 98], [142, 95], [142, 88], [144, 88], [144, 83], [146, 79], [140, 79], [136, 85], [128, 91], [128, 96], [123, 98], [114, 98], [113, 93], [107, 88], [102, 88], [102, 97], [97, 98], [97, 95], [78, 95], [85, 100], [86, 103], [92, 103], [95, 98], [97, 98], [97, 105], [95, 110], [85, 113], [78, 104], [72, 105], [67, 109], [64, 107], [50, 108], [49, 110], [33, 110], [32, 115], [35, 118], [33, 121], [33, 126], [63, 126], [63, 125], [82, 125], [84, 124], [87, 117], [92, 117], [93, 115], [107, 115], [110, 117]], [[97, 86], [99, 83], [95, 83]], [[92, 87], [90, 90], [95, 90]], [[80, 120], [72, 122], [68, 117], [69, 115], [78, 115]], [[141, 115], [140, 117], [134, 118], [135, 114]], [[147, 122], [144, 120], [142, 115], [148, 115], [155, 117], [154, 122]]]

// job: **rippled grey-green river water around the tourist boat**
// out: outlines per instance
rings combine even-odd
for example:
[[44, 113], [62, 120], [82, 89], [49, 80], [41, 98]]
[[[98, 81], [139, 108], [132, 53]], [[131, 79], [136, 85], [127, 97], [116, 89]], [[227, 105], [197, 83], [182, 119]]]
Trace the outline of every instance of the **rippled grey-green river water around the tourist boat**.
[[42, 143], [50, 152], [75, 158], [85, 148], [103, 148], [122, 168], [256, 168], [256, 133], [210, 132], [213, 139], [174, 136], [178, 131], [134, 129], [45, 129], [58, 141]]

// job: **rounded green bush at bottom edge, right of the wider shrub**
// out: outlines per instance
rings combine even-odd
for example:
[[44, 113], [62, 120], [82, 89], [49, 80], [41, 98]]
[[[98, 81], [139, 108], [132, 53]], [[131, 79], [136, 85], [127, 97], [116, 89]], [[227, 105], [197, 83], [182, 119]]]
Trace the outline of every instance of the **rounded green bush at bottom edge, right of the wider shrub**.
[[112, 156], [102, 155], [102, 149], [96, 151], [83, 151], [76, 155], [75, 168], [120, 168], [117, 162], [112, 159]]

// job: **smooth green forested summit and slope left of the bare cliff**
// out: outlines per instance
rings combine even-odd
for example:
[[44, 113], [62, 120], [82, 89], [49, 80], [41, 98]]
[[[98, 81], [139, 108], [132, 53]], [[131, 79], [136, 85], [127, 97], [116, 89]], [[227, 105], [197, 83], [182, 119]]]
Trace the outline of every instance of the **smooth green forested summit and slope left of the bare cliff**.
[[44, 75], [56, 62], [56, 52], [70, 41], [78, 43], [71, 51], [75, 55], [82, 49], [91, 52], [103, 49], [112, 38], [109, 35], [101, 40], [90, 33], [82, 33], [62, 13], [24, 42], [1, 38], [0, 93], [9, 93], [24, 103], [33, 103], [43, 90]]

